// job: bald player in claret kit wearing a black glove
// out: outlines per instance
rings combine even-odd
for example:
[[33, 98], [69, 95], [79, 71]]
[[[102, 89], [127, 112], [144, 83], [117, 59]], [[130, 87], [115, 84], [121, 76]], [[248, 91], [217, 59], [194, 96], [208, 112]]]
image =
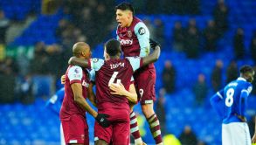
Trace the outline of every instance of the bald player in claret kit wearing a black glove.
[[[73, 45], [73, 55], [80, 59], [90, 59], [90, 47], [79, 42]], [[66, 144], [89, 144], [88, 126], [85, 114], [88, 112], [104, 128], [109, 126], [106, 114], [98, 114], [86, 102], [90, 81], [88, 72], [80, 66], [69, 66], [66, 71], [65, 97], [59, 118], [63, 127]]]

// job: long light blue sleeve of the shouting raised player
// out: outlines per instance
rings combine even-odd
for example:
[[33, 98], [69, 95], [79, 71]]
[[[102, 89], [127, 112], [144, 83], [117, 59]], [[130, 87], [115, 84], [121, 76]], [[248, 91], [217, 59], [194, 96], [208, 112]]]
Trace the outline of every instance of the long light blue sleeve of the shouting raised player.
[[139, 40], [141, 47], [140, 57], [145, 57], [149, 55], [149, 29], [145, 24], [139, 22], [135, 25], [135, 35]]

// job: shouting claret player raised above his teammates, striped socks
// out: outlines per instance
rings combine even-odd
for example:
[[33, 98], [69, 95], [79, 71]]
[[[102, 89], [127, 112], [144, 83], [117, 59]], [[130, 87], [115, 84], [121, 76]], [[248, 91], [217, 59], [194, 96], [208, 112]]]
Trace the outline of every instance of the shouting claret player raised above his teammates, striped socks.
[[[149, 55], [149, 30], [138, 17], [130, 3], [120, 3], [115, 7], [117, 27], [117, 39], [121, 42], [121, 50], [124, 57], [145, 57]], [[163, 144], [160, 123], [153, 109], [156, 100], [155, 84], [156, 70], [154, 64], [144, 66], [135, 72], [135, 88], [139, 95], [142, 112], [145, 115], [151, 134], [156, 144]], [[142, 144], [142, 138], [137, 127], [135, 113], [130, 114], [131, 133], [135, 137], [135, 144]]]

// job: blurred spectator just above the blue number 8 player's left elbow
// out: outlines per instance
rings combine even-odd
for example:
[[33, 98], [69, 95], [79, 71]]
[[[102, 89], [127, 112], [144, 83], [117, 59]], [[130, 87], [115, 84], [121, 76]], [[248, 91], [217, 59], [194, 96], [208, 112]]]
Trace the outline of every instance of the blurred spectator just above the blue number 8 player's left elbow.
[[213, 71], [211, 72], [211, 86], [215, 92], [217, 92], [222, 87], [222, 69], [223, 61], [221, 59], [216, 60]]

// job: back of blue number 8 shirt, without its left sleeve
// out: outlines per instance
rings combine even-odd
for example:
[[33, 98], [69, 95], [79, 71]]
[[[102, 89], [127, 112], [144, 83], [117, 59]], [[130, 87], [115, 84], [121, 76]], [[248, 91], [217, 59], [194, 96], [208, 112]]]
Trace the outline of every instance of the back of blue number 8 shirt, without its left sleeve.
[[224, 120], [223, 123], [240, 122], [238, 115], [240, 114], [240, 94], [243, 90], [247, 90], [251, 84], [246, 79], [239, 78], [227, 84], [224, 88]]

